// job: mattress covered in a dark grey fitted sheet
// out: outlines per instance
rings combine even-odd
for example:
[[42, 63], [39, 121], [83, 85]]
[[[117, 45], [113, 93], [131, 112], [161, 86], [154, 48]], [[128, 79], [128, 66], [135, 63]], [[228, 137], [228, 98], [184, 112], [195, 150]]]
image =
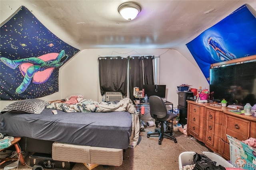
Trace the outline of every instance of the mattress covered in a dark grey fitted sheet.
[[127, 111], [107, 113], [67, 113], [44, 109], [41, 114], [10, 113], [0, 115], [1, 133], [46, 141], [127, 149], [132, 116]]

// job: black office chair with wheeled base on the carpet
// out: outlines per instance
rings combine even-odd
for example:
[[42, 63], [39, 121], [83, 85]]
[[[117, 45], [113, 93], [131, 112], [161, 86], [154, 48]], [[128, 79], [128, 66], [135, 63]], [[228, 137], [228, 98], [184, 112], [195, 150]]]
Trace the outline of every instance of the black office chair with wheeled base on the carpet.
[[[177, 143], [176, 138], [172, 136], [172, 127], [170, 131], [164, 131], [164, 122], [170, 121], [178, 117], [178, 115], [172, 112], [168, 112], [164, 104], [164, 101], [159, 96], [150, 96], [148, 102], [150, 107], [150, 115], [155, 119], [156, 127], [158, 127], [158, 122], [160, 122], [161, 127], [160, 130], [155, 129], [155, 132], [148, 132], [147, 137], [150, 137], [150, 135], [159, 135], [159, 145], [162, 144], [164, 136], [169, 139], [173, 139], [174, 143]], [[166, 124], [166, 127], [167, 126], [168, 125]], [[170, 133], [170, 135], [168, 135], [167, 133]]]

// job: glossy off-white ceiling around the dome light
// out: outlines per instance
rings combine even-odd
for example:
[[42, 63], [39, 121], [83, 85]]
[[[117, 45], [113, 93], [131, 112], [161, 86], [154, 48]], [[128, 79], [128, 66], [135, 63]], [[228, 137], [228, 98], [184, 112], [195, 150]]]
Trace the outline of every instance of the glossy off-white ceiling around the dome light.
[[1, 23], [25, 6], [60, 39], [80, 50], [180, 49], [243, 4], [255, 0], [134, 0], [142, 11], [132, 21], [118, 13], [128, 0], [0, 0]]

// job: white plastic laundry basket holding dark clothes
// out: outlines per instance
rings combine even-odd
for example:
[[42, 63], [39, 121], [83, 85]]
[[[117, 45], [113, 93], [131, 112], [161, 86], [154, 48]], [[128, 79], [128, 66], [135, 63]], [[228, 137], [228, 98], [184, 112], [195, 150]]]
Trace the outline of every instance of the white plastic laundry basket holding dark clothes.
[[[186, 165], [192, 165], [194, 163], [194, 154], [196, 152], [182, 152], [179, 155], [179, 170], [183, 170], [183, 166]], [[225, 168], [234, 168], [232, 164], [230, 164], [228, 161], [226, 161], [221, 156], [212, 153], [212, 152], [203, 152], [204, 155], [206, 155], [208, 158], [210, 158], [212, 161], [216, 162], [216, 166], [222, 165]]]

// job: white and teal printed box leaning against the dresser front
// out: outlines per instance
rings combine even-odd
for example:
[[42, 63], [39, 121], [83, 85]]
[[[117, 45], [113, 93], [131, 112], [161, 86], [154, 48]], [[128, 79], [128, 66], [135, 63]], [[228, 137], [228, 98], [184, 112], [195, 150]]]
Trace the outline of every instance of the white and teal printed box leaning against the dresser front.
[[230, 145], [230, 162], [236, 168], [256, 170], [256, 149], [227, 135]]

